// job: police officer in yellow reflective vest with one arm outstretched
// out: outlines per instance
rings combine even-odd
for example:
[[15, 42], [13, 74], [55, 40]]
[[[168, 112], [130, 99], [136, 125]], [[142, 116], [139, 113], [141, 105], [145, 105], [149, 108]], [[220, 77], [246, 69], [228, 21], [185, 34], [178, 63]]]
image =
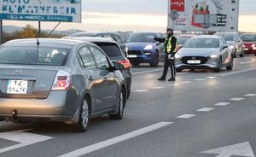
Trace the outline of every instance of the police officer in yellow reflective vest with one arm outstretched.
[[168, 81], [175, 81], [176, 70], [175, 70], [174, 55], [177, 49], [177, 38], [173, 36], [173, 29], [170, 27], [167, 27], [166, 35], [167, 35], [166, 38], [154, 38], [155, 41], [158, 41], [160, 43], [165, 43], [164, 51], [166, 52], [164, 72], [163, 72], [163, 75], [157, 80], [165, 81], [168, 68], [171, 67], [172, 78], [168, 79]]

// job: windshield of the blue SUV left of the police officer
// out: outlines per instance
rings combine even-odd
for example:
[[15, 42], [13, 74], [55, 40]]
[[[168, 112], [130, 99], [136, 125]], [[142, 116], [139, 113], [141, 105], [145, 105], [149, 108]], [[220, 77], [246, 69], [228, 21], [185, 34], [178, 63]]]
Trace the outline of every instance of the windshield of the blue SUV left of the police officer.
[[155, 43], [155, 36], [155, 33], [133, 33], [126, 39], [126, 43]]

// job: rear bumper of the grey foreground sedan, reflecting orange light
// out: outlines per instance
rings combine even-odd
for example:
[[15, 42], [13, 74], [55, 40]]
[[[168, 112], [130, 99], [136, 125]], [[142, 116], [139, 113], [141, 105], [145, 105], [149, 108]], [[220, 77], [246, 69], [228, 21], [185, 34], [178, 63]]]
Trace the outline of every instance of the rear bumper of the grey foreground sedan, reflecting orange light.
[[20, 119], [49, 119], [67, 121], [72, 119], [77, 110], [76, 100], [68, 99], [69, 92], [65, 90], [51, 91], [46, 99], [1, 98], [1, 119], [15, 116]]

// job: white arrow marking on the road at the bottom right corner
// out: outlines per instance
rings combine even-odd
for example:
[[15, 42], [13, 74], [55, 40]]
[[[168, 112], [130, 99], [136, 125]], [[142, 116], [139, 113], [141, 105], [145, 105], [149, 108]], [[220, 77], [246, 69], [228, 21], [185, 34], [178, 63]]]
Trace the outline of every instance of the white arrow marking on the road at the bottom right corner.
[[201, 154], [218, 154], [216, 157], [230, 157], [230, 156], [247, 156], [255, 157], [250, 142], [241, 142], [226, 146], [223, 148], [215, 148], [201, 152]]

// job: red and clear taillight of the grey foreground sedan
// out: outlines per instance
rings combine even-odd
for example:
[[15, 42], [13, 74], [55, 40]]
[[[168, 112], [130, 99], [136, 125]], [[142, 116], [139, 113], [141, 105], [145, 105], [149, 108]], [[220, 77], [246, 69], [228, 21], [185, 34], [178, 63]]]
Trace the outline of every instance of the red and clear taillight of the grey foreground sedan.
[[51, 90], [68, 90], [71, 87], [71, 75], [63, 70], [57, 72]]

